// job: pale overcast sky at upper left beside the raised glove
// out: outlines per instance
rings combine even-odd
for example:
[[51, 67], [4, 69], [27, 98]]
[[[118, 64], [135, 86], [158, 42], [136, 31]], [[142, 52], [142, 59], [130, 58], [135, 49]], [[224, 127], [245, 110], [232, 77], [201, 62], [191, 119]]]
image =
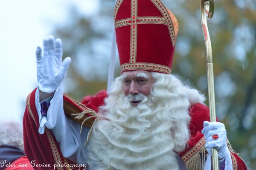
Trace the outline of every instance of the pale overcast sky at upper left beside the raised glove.
[[99, 5], [97, 0], [0, 1], [0, 120], [22, 120], [26, 96], [37, 83], [35, 49], [65, 20], [70, 2], [84, 14]]

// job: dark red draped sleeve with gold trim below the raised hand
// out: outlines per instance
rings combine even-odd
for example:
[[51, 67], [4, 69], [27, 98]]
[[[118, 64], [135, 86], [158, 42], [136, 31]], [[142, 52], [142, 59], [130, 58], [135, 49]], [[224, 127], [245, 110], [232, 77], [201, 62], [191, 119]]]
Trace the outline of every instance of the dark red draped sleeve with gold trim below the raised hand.
[[[44, 134], [39, 134], [39, 120], [35, 107], [35, 91], [27, 97], [23, 116], [24, 149], [29, 162], [35, 170], [52, 170], [55, 164], [73, 164], [64, 159], [61, 150], [51, 130], [45, 128]], [[56, 169], [56, 168], [55, 168]], [[73, 167], [73, 170], [78, 168]], [[57, 168], [67, 170], [67, 167]]]

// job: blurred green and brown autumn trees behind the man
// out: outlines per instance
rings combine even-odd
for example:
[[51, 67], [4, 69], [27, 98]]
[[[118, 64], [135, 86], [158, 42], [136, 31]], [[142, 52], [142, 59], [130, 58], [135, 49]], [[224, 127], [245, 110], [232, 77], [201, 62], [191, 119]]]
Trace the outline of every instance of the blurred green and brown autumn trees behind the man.
[[[52, 30], [63, 41], [64, 57], [72, 57], [64, 87], [78, 100], [107, 87], [115, 4], [114, 0], [95, 2], [95, 11], [86, 15], [70, 4], [65, 20], [68, 22]], [[179, 22], [172, 73], [208, 96], [200, 1], [163, 0], [163, 3]], [[256, 1], [216, 0], [215, 14], [208, 20], [208, 26], [216, 114], [226, 125], [233, 149], [251, 170], [256, 170]], [[116, 59], [115, 76], [119, 75]]]

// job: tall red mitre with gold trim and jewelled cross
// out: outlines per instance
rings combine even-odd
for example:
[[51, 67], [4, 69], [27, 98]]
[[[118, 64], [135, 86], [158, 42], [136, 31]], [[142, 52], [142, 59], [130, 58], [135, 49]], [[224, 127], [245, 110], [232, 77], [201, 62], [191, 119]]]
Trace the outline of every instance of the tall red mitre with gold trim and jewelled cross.
[[171, 73], [178, 23], [160, 0], [118, 0], [114, 22], [122, 72]]

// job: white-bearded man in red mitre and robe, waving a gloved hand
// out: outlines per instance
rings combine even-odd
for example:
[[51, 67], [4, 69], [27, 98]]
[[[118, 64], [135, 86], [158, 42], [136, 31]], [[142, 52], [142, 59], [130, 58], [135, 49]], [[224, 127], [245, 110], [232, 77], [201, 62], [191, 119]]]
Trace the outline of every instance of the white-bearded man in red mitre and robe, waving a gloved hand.
[[38, 47], [38, 88], [23, 118], [27, 157], [49, 170], [211, 170], [215, 147], [221, 170], [246, 170], [224, 124], [209, 122], [204, 96], [171, 74], [178, 32], [172, 12], [160, 0], [118, 0], [114, 21], [122, 75], [109, 94], [81, 103], [63, 94], [71, 59], [62, 62], [61, 40], [44, 39], [43, 55]]

